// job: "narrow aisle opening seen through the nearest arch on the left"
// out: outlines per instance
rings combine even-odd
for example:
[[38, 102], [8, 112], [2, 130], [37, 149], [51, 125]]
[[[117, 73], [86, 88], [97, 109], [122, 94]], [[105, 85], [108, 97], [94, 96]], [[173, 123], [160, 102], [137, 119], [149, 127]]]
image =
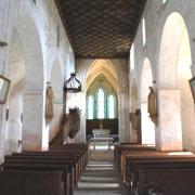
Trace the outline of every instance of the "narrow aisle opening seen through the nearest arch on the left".
[[25, 87], [25, 56], [18, 32], [14, 29], [9, 50], [9, 75], [11, 88], [6, 103], [5, 154], [20, 152], [22, 140], [23, 93]]

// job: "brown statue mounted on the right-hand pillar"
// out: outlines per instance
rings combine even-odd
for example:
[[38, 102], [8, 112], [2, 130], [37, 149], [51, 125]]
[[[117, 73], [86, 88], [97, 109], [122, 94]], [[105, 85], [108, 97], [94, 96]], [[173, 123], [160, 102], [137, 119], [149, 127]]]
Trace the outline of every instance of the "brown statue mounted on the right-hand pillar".
[[156, 103], [156, 93], [152, 87], [150, 87], [150, 94], [147, 98], [147, 112], [150, 114], [151, 120], [156, 125], [157, 123], [157, 103]]

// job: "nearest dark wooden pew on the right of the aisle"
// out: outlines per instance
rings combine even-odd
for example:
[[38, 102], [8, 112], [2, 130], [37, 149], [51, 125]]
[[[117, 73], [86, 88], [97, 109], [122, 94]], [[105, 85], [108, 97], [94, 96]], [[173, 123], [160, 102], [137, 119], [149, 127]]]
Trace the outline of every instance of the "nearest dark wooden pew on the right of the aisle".
[[195, 169], [139, 169], [132, 178], [131, 194], [193, 195]]

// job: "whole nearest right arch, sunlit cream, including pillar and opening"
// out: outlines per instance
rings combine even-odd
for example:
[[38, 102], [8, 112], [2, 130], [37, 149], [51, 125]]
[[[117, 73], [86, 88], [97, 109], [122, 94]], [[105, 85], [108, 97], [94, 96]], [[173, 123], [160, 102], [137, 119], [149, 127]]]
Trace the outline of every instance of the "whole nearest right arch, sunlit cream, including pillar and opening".
[[168, 139], [167, 143], [162, 143], [157, 136], [162, 150], [194, 148], [192, 132], [195, 114], [188, 86], [188, 79], [192, 78], [191, 65], [187, 28], [182, 15], [173, 12], [164, 27], [159, 55], [159, 131], [160, 139]]

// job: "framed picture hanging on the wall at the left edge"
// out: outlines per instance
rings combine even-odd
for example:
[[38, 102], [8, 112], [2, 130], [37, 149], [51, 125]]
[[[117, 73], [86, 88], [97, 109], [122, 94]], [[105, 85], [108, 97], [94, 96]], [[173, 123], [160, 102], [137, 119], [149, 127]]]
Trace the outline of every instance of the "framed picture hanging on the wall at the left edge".
[[11, 80], [0, 75], [0, 104], [6, 102]]

